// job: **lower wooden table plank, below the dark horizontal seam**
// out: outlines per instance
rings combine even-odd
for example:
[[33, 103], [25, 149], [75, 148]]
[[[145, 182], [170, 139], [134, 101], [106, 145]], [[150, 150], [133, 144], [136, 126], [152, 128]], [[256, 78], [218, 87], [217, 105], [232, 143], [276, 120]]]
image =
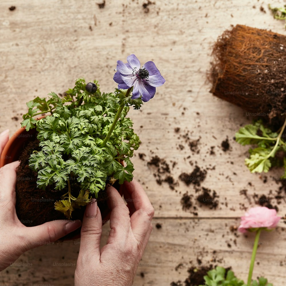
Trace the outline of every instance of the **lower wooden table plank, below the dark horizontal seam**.
[[[155, 227], [157, 223], [161, 224], [161, 229]], [[246, 281], [254, 236], [250, 234], [246, 238], [240, 233], [232, 233], [229, 228], [238, 226], [238, 220], [154, 219], [153, 225], [134, 285], [163, 286], [172, 281], [183, 281], [188, 277], [187, 269], [198, 266], [197, 258], [202, 265], [232, 266], [237, 276]], [[109, 230], [105, 225], [102, 245], [106, 243]], [[281, 251], [286, 247], [284, 232], [284, 224], [280, 223], [275, 231], [262, 233], [256, 259], [259, 266], [255, 266], [253, 277], [265, 275], [274, 285], [282, 283], [286, 265], [285, 253]], [[0, 273], [0, 283], [12, 286], [73, 285], [79, 246], [80, 241], [76, 240], [32, 249], [7, 268], [9, 273]], [[183, 266], [175, 271], [180, 263]]]

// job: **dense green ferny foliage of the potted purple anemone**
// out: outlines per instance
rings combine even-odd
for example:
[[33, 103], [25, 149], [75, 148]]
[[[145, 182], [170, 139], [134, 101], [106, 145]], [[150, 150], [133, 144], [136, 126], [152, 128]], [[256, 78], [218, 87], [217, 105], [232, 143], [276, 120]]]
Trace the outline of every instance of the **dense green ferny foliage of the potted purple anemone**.
[[[94, 83], [98, 86], [97, 81]], [[48, 99], [29, 101], [22, 122], [27, 131], [36, 127], [38, 132], [41, 150], [34, 151], [29, 160], [29, 166], [38, 172], [37, 185], [44, 190], [51, 186], [49, 189], [62, 191], [62, 200], [55, 203], [55, 208], [68, 218], [75, 208], [98, 197], [107, 178], [118, 179], [120, 184], [132, 180], [130, 158], [140, 144], [133, 122], [126, 115], [130, 106], [140, 109], [141, 99], [124, 98], [122, 90], [101, 94], [99, 86], [95, 94], [90, 94], [85, 86], [85, 80], [78, 79], [64, 98], [51, 92]], [[125, 105], [120, 119], [106, 146], [100, 148], [119, 104]], [[44, 118], [35, 119], [47, 112]]]

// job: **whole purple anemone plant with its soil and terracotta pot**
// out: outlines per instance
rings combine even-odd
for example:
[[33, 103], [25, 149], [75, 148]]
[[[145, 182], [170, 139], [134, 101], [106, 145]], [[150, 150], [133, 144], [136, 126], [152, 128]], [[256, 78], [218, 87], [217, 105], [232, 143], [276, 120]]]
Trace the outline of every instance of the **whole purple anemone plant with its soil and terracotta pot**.
[[98, 201], [103, 223], [108, 220], [105, 186], [132, 180], [130, 158], [140, 144], [128, 110], [139, 110], [165, 82], [152, 61], [141, 67], [134, 54], [127, 61], [117, 61], [114, 93], [101, 93], [96, 80], [86, 84], [80, 78], [62, 97], [52, 92], [27, 102], [22, 128], [0, 161], [3, 166], [21, 160], [16, 211], [24, 225], [82, 219], [91, 198]]

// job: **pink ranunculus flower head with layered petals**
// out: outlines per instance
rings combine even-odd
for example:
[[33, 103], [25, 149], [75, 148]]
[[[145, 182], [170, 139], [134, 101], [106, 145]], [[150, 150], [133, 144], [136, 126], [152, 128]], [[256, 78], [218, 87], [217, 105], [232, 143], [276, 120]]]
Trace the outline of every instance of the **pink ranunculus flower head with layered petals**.
[[266, 227], [272, 229], [276, 227], [281, 217], [277, 217], [276, 210], [265, 206], [257, 206], [248, 210], [244, 217], [241, 217], [241, 223], [238, 230], [245, 233], [247, 229]]

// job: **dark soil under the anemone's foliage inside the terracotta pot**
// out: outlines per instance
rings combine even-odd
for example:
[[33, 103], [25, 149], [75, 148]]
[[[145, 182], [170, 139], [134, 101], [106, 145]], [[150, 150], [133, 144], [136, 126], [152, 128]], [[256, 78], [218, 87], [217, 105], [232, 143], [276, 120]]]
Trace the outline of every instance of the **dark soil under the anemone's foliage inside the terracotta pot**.
[[[17, 168], [17, 181], [16, 181], [16, 212], [19, 220], [23, 225], [32, 227], [41, 225], [47, 221], [56, 219], [66, 219], [66, 217], [59, 211], [55, 210], [54, 203], [61, 199], [61, 195], [66, 190], [57, 191], [53, 186], [47, 186], [45, 190], [37, 188], [37, 172], [29, 168], [29, 157], [33, 151], [40, 150], [39, 141], [36, 139], [29, 142], [24, 148], [19, 160], [20, 165]], [[114, 187], [119, 189], [119, 184], [114, 184]], [[77, 196], [79, 190], [78, 182], [71, 184], [71, 192]], [[102, 213], [102, 218], [106, 217], [109, 212], [107, 205], [108, 195], [105, 190], [98, 193], [98, 206]], [[84, 216], [85, 207], [75, 209], [72, 213], [72, 220], [82, 220]], [[69, 235], [72, 237], [77, 230]]]

